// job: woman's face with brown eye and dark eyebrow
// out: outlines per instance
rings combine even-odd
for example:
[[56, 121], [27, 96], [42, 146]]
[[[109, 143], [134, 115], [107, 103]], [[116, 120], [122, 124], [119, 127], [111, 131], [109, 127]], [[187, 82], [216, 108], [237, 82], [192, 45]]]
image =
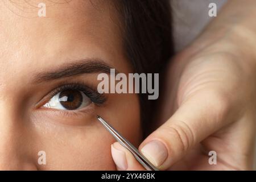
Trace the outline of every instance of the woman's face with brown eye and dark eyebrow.
[[0, 169], [115, 169], [114, 139], [96, 114], [141, 139], [137, 94], [97, 92], [102, 65], [133, 72], [115, 7], [46, 1], [39, 17], [41, 1], [30, 2], [0, 3]]

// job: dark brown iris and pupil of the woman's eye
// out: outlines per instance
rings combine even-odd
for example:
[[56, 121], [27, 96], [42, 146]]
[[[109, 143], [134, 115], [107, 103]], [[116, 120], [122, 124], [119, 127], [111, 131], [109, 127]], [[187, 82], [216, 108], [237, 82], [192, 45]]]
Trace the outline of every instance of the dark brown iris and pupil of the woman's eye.
[[60, 93], [59, 98], [60, 104], [68, 110], [77, 109], [82, 104], [82, 94], [79, 90], [65, 90]]

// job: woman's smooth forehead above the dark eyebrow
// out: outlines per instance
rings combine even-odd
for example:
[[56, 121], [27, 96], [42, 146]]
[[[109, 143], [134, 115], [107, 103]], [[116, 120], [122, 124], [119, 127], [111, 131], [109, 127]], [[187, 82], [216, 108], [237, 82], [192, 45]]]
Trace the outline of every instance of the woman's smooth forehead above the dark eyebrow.
[[112, 1], [46, 1], [46, 17], [38, 16], [37, 5], [41, 1], [3, 2], [0, 3], [0, 74], [44, 69], [53, 63], [57, 66], [85, 57], [122, 66], [122, 35]]

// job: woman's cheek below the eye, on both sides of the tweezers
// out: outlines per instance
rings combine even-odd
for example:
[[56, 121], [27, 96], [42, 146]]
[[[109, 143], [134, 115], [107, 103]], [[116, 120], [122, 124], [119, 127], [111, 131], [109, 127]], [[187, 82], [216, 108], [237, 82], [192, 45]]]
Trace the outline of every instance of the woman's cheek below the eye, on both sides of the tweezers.
[[[114, 97], [114, 98], [111, 98]], [[125, 138], [138, 147], [141, 142], [139, 100], [136, 94], [114, 94], [105, 107], [95, 114], [105, 118]], [[46, 152], [46, 165], [39, 169], [51, 170], [114, 170], [111, 156], [112, 135], [95, 117], [86, 116], [84, 126], [64, 125], [42, 112], [32, 117], [31, 140], [34, 154]], [[64, 118], [63, 118], [64, 119]], [[72, 122], [72, 118], [69, 118]], [[35, 159], [37, 162], [37, 159]]]

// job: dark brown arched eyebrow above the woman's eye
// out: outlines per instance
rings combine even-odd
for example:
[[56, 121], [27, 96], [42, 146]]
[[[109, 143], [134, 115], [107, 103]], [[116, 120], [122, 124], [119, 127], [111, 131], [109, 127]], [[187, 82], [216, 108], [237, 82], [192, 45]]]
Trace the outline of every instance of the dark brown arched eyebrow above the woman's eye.
[[[40, 83], [60, 78], [77, 76], [85, 73], [108, 73], [110, 74], [110, 67], [104, 61], [99, 59], [83, 59], [77, 60], [74, 63], [64, 64], [61, 68], [53, 71], [37, 73], [33, 82]], [[119, 73], [115, 69], [115, 74]]]

